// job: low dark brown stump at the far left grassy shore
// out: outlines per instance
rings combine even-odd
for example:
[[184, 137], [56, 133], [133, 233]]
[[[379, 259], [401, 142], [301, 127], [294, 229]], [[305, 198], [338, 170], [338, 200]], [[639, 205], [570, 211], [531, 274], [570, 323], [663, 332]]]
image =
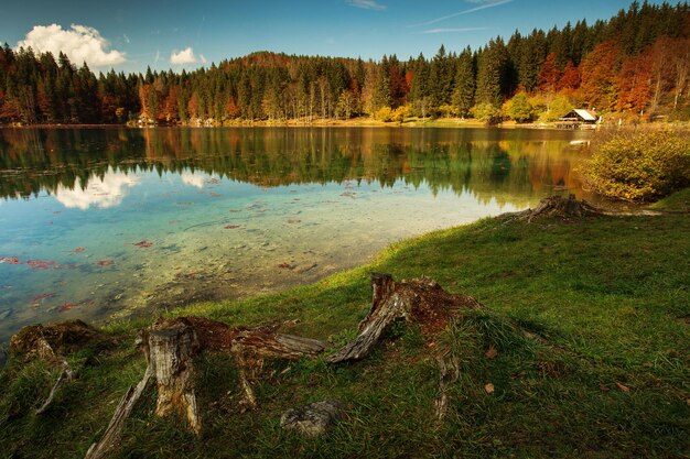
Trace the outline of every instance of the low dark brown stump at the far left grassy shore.
[[37, 415], [45, 413], [52, 406], [57, 391], [74, 379], [76, 370], [71, 368], [65, 356], [93, 343], [103, 346], [112, 342], [112, 339], [82, 320], [69, 320], [50, 326], [29, 326], [12, 336], [10, 354], [13, 358], [22, 359], [24, 362], [42, 359], [50, 364], [62, 367], [51, 393], [35, 413]]

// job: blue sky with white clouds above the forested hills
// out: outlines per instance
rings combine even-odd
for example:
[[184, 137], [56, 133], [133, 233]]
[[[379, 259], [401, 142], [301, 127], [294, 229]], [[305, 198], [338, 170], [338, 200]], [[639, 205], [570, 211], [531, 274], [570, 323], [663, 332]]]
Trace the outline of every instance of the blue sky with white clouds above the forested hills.
[[0, 43], [62, 50], [94, 70], [118, 72], [192, 69], [255, 51], [407, 59], [433, 56], [441, 44], [476, 48], [516, 29], [608, 19], [630, 1], [8, 1]]

